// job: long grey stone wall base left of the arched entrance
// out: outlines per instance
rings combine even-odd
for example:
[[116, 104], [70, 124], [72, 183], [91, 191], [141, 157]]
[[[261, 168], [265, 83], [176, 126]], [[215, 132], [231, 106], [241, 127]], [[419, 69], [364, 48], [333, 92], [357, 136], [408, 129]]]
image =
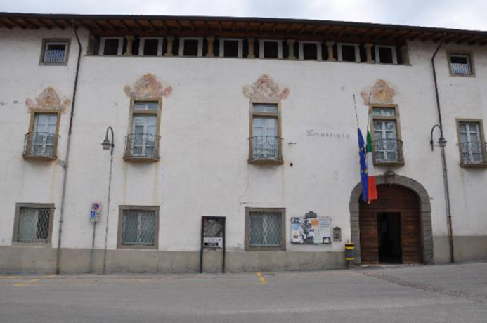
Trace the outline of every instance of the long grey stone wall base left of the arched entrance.
[[[0, 246], [0, 273], [56, 272], [57, 249]], [[61, 272], [90, 272], [90, 249], [63, 249]], [[203, 272], [221, 272], [221, 250], [205, 250]], [[94, 270], [103, 272], [103, 250], [95, 251]], [[342, 252], [227, 251], [226, 272], [279, 272], [345, 268]], [[107, 272], [200, 272], [199, 251], [117, 249], [107, 251]]]

